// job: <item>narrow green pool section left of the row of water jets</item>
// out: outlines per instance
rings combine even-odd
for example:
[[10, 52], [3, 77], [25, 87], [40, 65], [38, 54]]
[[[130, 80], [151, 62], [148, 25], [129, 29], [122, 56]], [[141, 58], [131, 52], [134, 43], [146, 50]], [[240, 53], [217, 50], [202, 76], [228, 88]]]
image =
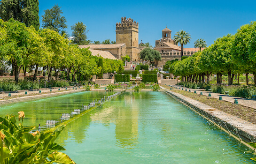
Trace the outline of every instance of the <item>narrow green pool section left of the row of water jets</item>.
[[6, 104], [0, 106], [0, 116], [5, 117], [6, 114], [18, 116], [18, 112], [23, 111], [25, 112], [24, 126], [38, 126], [39, 124], [43, 126], [48, 119], [60, 119], [62, 113], [70, 113], [74, 109], [81, 109], [82, 104], [87, 105], [93, 100], [111, 94], [113, 93], [106, 91], [87, 91]]

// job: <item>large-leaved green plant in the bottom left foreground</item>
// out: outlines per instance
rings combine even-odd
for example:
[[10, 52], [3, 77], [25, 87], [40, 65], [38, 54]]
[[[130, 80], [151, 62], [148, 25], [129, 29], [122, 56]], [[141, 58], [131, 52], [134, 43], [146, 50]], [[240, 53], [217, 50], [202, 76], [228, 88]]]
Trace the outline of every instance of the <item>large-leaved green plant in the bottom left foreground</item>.
[[[19, 120], [24, 119], [24, 112], [19, 112]], [[31, 130], [35, 127], [16, 125], [14, 115], [0, 117], [0, 164], [75, 164], [65, 150], [54, 141], [65, 125], [53, 132], [40, 133]]]

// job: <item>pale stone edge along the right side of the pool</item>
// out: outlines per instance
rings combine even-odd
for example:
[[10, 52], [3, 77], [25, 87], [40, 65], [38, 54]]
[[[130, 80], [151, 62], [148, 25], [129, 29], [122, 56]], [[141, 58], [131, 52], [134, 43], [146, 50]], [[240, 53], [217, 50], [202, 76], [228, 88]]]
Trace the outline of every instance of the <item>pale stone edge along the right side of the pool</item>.
[[187, 107], [194, 110], [205, 119], [208, 119], [217, 125], [217, 127], [232, 135], [235, 139], [239, 140], [250, 149], [255, 150], [255, 148], [247, 144], [247, 142], [256, 142], [255, 124], [220, 111], [207, 104], [203, 104], [192, 98], [183, 96], [179, 93], [172, 92], [170, 90], [165, 91], [165, 93], [178, 100], [182, 104], [185, 104]]

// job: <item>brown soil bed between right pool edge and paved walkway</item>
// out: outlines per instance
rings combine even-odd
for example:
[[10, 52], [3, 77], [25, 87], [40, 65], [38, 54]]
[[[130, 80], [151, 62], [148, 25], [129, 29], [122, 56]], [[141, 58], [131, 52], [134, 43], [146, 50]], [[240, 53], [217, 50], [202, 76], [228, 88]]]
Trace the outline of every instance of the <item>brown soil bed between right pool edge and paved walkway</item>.
[[207, 96], [184, 90], [172, 89], [171, 91], [177, 92], [186, 97], [193, 98], [218, 110], [232, 114], [233, 116], [239, 117], [240, 119], [244, 119], [248, 122], [256, 124], [256, 111], [253, 108], [249, 108], [240, 104], [232, 104], [226, 101], [219, 101], [217, 98], [207, 98]]

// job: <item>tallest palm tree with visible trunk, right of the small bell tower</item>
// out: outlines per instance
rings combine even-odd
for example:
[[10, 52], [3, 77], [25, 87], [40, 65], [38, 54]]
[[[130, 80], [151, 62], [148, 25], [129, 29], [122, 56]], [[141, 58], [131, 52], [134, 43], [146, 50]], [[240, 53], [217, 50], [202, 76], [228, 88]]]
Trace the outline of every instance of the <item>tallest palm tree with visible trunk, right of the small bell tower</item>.
[[179, 43], [181, 45], [181, 58], [183, 56], [183, 45], [186, 45], [190, 42], [190, 34], [186, 31], [180, 30], [173, 37], [175, 43]]

